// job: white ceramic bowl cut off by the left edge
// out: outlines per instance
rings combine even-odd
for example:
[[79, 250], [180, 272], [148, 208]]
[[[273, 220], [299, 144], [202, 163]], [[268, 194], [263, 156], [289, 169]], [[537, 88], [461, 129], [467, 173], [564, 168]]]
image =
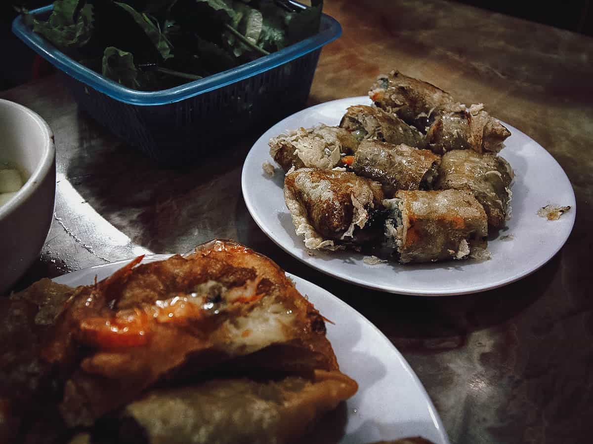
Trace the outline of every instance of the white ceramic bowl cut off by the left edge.
[[0, 206], [0, 294], [37, 258], [52, 224], [56, 197], [53, 133], [38, 114], [0, 99], [0, 168], [14, 164], [27, 181]]

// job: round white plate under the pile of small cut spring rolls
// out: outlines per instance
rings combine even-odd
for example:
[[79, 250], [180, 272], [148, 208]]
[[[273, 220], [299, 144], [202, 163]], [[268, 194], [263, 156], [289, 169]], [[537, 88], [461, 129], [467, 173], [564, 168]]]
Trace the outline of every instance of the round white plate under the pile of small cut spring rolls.
[[[362, 287], [401, 294], [464, 294], [501, 287], [517, 281], [550, 260], [568, 239], [575, 222], [575, 194], [565, 172], [537, 142], [505, 124], [512, 136], [500, 152], [515, 170], [512, 188], [512, 218], [500, 236], [512, 239], [489, 242], [492, 259], [478, 262], [436, 262], [400, 265], [395, 262], [366, 265], [356, 252], [317, 252], [310, 256], [302, 237], [295, 234], [284, 203], [282, 169], [273, 178], [263, 173], [263, 162], [274, 163], [267, 141], [282, 131], [339, 124], [346, 108], [370, 104], [366, 96], [350, 97], [316, 105], [285, 118], [256, 141], [243, 165], [243, 197], [257, 225], [286, 252], [313, 268]], [[537, 215], [547, 204], [570, 205], [557, 221]]]

